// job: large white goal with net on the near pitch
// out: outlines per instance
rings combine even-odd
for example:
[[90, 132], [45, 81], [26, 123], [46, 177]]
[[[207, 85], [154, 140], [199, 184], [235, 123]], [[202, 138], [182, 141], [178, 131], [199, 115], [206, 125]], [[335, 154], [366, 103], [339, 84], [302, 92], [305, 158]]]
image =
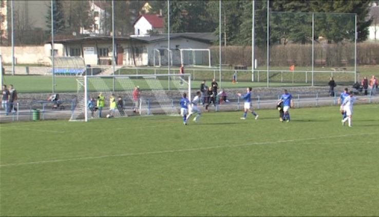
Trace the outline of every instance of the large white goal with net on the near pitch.
[[191, 99], [191, 74], [81, 76], [77, 84], [77, 100], [70, 121], [179, 115], [183, 93]]

